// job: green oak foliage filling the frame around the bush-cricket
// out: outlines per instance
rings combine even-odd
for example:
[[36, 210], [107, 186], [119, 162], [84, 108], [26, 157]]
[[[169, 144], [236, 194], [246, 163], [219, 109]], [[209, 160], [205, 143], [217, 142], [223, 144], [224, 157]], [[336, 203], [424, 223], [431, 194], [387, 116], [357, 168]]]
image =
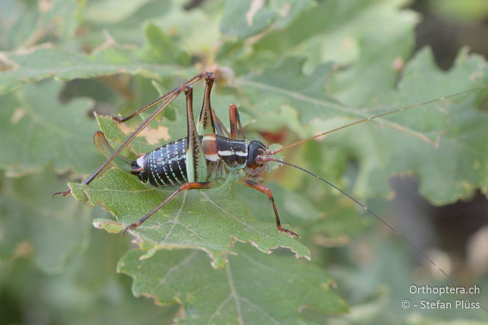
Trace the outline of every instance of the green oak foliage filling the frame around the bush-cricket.
[[[296, 170], [281, 167], [265, 184], [299, 240], [276, 231], [264, 194], [232, 180], [182, 194], [126, 238], [121, 225], [169, 192], [117, 169], [90, 187], [76, 184], [103, 161], [92, 143], [99, 127], [117, 145], [137, 124], [121, 128], [103, 115], [133, 112], [203, 70], [217, 76], [212, 106], [224, 122], [235, 103], [248, 139], [282, 145], [486, 86], [486, 60], [466, 48], [447, 72], [429, 48], [412, 54], [420, 17], [407, 2], [218, 0], [185, 9], [183, 0], [1, 1], [2, 323], [481, 324], [483, 309], [402, 309], [403, 299], [438, 299], [412, 296], [411, 284], [446, 279], [429, 277], [430, 266], [419, 266], [405, 242]], [[456, 12], [456, 1], [441, 2], [432, 8]], [[487, 7], [470, 2], [462, 16], [476, 21]], [[196, 85], [195, 108], [202, 93]], [[383, 199], [394, 175], [415, 175], [419, 192], [437, 205], [486, 194], [487, 94], [352, 126], [285, 159], [390, 223]], [[175, 100], [125, 154], [185, 136], [183, 107], [183, 97]], [[52, 199], [68, 182], [76, 198], [111, 214]], [[476, 283], [475, 298], [488, 303], [486, 274], [453, 277]], [[469, 298], [448, 297], [455, 299]]]

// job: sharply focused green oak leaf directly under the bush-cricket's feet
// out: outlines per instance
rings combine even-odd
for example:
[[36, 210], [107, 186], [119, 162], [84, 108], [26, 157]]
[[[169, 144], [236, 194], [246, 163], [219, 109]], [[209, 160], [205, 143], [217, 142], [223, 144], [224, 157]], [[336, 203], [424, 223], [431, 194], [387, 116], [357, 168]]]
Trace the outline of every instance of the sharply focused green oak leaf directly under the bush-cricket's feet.
[[[285, 247], [297, 257], [309, 259], [308, 248], [276, 229], [273, 214], [269, 214], [267, 223], [252, 218], [235, 196], [233, 182], [229, 178], [215, 189], [184, 191], [129, 232], [149, 255], [158, 249], [201, 249], [210, 256], [215, 268], [225, 265], [228, 253], [235, 253], [236, 241], [249, 242], [263, 252]], [[102, 204], [117, 218], [121, 226], [97, 220], [99, 227], [111, 232], [136, 222], [174, 191], [142, 184], [118, 169], [108, 170], [89, 186], [74, 183], [69, 186], [76, 199]], [[267, 201], [264, 194], [263, 200]]]

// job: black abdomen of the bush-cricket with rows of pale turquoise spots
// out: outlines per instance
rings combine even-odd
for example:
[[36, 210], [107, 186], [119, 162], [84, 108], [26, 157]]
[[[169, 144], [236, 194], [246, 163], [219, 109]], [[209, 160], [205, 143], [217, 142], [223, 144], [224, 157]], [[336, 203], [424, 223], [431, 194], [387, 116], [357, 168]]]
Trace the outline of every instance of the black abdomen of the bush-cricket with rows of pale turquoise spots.
[[146, 153], [143, 171], [138, 174], [142, 182], [158, 187], [181, 186], [186, 178], [186, 138], [178, 139]]

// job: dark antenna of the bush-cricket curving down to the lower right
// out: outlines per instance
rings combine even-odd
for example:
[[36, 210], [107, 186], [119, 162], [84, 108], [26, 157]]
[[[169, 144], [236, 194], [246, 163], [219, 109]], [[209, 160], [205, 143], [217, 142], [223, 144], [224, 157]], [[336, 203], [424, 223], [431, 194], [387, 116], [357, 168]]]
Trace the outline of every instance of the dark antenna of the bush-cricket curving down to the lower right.
[[[418, 249], [415, 245], [412, 244], [412, 242], [410, 242], [404, 235], [402, 235], [400, 232], [398, 232], [396, 229], [394, 229], [393, 227], [391, 227], [385, 220], [383, 220], [379, 215], [377, 215], [376, 213], [374, 213], [373, 211], [369, 210], [364, 204], [362, 204], [361, 202], [359, 202], [356, 198], [354, 198], [352, 195], [348, 194], [346, 191], [338, 188], [337, 186], [335, 186], [334, 184], [330, 183], [329, 181], [325, 180], [324, 178], [320, 177], [319, 175], [317, 174], [314, 174], [313, 172], [309, 172], [307, 171], [305, 168], [302, 168], [300, 166], [297, 166], [297, 165], [293, 165], [293, 164], [290, 164], [286, 161], [283, 161], [283, 160], [280, 160], [280, 159], [276, 159], [274, 157], [270, 157], [270, 156], [261, 156], [261, 159], [259, 159], [260, 156], [258, 156], [258, 161], [276, 161], [276, 162], [279, 162], [279, 163], [282, 163], [282, 164], [285, 164], [285, 165], [288, 165], [288, 166], [291, 166], [291, 167], [295, 167], [301, 171], [304, 171], [306, 172], [307, 174], [310, 174], [312, 175], [313, 177], [316, 177], [318, 179], [320, 179], [321, 181], [325, 182], [327, 185], [330, 185], [331, 187], [333, 187], [334, 189], [336, 189], [337, 191], [340, 191], [341, 193], [343, 193], [344, 195], [346, 195], [348, 198], [350, 198], [351, 200], [353, 200], [356, 204], [358, 204], [360, 207], [364, 208], [366, 211], [369, 212], [369, 214], [373, 215], [376, 219], [378, 219], [379, 221], [381, 221], [386, 227], [388, 227], [391, 231], [393, 231], [395, 234], [397, 234], [400, 238], [402, 238], [404, 241], [407, 242], [408, 245], [410, 245], [411, 248], [413, 248], [414, 250], [416, 250], [420, 255], [422, 255], [427, 261], [430, 262], [430, 264], [432, 264], [435, 268], [437, 268], [439, 271], [442, 272], [442, 274], [444, 274], [447, 279], [449, 279], [449, 281], [451, 283], [453, 283], [454, 285], [456, 285], [456, 281], [454, 281], [454, 279], [452, 279], [449, 275], [447, 275], [447, 273], [440, 267], [437, 266], [437, 264], [434, 263], [434, 261], [432, 261], [430, 258], [427, 257], [427, 255], [420, 249]], [[488, 309], [483, 306], [471, 293], [468, 292], [468, 295], [471, 299], [473, 299], [473, 301], [477, 302], [480, 304], [480, 306], [485, 309], [485, 311], [488, 312]]]

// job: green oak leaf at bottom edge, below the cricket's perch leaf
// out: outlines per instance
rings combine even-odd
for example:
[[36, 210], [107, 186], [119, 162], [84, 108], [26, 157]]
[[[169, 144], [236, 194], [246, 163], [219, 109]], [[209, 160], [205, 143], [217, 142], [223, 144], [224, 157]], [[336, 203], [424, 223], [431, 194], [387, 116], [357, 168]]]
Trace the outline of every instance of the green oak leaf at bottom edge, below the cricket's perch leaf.
[[117, 269], [134, 279], [136, 296], [183, 305], [178, 324], [301, 324], [300, 313], [307, 308], [327, 314], [348, 310], [322, 269], [242, 245], [236, 252], [225, 268], [214, 270], [194, 250], [160, 251], [150, 259], [132, 250]]

